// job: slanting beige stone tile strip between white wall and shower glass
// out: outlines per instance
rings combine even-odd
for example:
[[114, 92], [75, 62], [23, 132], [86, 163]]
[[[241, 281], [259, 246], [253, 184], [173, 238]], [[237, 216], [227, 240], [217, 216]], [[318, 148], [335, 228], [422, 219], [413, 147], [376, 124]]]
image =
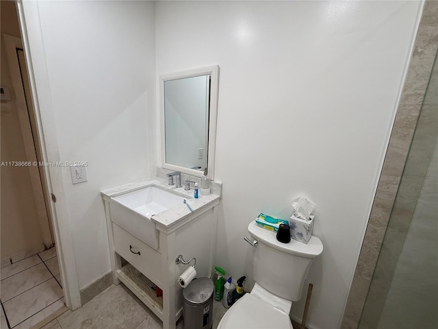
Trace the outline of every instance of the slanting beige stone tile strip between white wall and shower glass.
[[[383, 238], [400, 185], [404, 164], [422, 104], [424, 100], [428, 103], [424, 99], [424, 95], [438, 48], [437, 12], [438, 1], [426, 1], [415, 39], [409, 70], [404, 82], [396, 120], [391, 132], [381, 178], [378, 183], [355, 276], [348, 296], [341, 326], [342, 329], [358, 328], [379, 253], [381, 250], [385, 252], [382, 248]], [[413, 184], [413, 181], [410, 183]], [[404, 199], [400, 204], [412, 206], [412, 202], [412, 199]], [[407, 210], [400, 208], [396, 211], [406, 212]], [[387, 259], [389, 261], [391, 259], [396, 260], [390, 257]], [[394, 269], [395, 266], [395, 264], [389, 264], [388, 268]], [[390, 273], [381, 273], [381, 276], [384, 276], [385, 280], [387, 280], [391, 275]], [[380, 289], [383, 289], [383, 287], [380, 287]], [[381, 312], [381, 308], [376, 311]]]

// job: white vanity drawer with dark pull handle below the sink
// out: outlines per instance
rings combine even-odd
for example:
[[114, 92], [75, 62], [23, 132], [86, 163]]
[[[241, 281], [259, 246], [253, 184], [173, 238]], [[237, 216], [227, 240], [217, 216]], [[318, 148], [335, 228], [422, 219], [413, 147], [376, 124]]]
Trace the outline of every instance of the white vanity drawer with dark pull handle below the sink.
[[112, 223], [114, 251], [136, 267], [144, 276], [162, 287], [162, 255], [132, 234]]

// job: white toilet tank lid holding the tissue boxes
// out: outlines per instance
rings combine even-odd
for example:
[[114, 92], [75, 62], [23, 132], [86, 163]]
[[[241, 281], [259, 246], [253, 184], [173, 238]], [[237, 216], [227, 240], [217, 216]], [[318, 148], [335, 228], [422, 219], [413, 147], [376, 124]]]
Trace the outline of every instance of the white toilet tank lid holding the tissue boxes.
[[276, 239], [276, 232], [257, 226], [255, 221], [249, 223], [248, 232], [259, 242], [265, 243], [266, 245], [282, 252], [287, 252], [288, 254], [294, 254], [306, 258], [315, 258], [322, 253], [322, 242], [316, 236], [312, 236], [307, 245], [295, 240], [291, 240], [289, 243], [281, 243]]

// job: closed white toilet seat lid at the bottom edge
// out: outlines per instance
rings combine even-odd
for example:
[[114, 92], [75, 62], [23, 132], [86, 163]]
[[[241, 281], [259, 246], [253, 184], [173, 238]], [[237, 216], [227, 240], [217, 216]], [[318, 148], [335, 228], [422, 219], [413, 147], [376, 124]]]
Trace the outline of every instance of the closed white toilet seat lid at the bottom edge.
[[237, 300], [222, 320], [218, 329], [294, 329], [289, 315], [274, 306], [246, 293]]

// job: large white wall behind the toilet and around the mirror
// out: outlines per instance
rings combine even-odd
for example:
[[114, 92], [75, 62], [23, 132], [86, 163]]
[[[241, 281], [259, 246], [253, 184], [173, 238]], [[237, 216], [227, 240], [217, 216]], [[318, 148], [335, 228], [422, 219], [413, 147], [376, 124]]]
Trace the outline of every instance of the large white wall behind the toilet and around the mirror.
[[317, 205], [309, 328], [342, 319], [421, 4], [156, 3], [157, 74], [220, 65], [217, 264], [252, 287], [248, 223]]

